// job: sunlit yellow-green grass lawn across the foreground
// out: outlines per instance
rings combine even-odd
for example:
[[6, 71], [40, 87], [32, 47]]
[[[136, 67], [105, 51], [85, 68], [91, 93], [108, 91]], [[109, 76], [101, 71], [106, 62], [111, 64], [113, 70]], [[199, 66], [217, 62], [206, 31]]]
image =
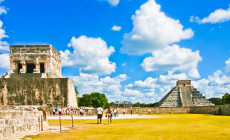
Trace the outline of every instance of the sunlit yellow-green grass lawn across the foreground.
[[[158, 115], [153, 119], [120, 119], [107, 125], [96, 120], [74, 120], [75, 128], [64, 133], [46, 133], [29, 136], [32, 139], [217, 139], [230, 140], [230, 116], [204, 114]], [[49, 125], [59, 125], [58, 120], [49, 120]], [[62, 125], [71, 127], [71, 120], [62, 120]]]

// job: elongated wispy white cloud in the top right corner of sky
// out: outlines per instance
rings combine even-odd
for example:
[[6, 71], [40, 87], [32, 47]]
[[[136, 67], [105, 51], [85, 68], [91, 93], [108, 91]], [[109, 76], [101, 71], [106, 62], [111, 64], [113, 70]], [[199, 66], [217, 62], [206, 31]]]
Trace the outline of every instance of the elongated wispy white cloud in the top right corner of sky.
[[230, 7], [227, 10], [217, 9], [203, 19], [194, 16], [190, 17], [191, 22], [198, 22], [199, 24], [205, 24], [205, 23], [215, 24], [215, 23], [226, 22], [229, 20], [230, 20]]

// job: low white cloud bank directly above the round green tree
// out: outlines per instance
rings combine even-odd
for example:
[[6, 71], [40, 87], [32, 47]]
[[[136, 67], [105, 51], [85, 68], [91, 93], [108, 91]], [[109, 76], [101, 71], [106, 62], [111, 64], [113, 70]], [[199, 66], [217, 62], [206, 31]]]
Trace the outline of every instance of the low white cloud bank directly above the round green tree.
[[79, 76], [69, 77], [76, 83], [80, 96], [91, 92], [100, 92], [104, 93], [110, 102], [121, 100], [121, 82], [128, 78], [125, 74], [120, 74], [113, 78], [109, 76], [99, 78], [98, 75], [84, 73], [80, 73]]

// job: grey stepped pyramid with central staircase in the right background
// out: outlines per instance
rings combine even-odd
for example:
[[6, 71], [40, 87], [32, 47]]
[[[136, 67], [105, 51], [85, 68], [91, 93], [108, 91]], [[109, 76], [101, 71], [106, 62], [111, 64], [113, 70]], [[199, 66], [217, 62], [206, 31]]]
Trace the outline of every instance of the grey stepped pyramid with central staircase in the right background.
[[193, 107], [214, 106], [196, 88], [191, 80], [178, 80], [177, 85], [169, 91], [156, 105], [157, 107]]

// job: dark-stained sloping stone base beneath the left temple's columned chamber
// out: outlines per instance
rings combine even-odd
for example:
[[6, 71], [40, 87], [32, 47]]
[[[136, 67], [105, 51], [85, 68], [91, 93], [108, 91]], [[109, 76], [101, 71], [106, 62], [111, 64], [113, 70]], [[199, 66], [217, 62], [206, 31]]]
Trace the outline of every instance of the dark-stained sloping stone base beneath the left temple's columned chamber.
[[73, 81], [68, 78], [4, 78], [0, 105], [77, 107]]

